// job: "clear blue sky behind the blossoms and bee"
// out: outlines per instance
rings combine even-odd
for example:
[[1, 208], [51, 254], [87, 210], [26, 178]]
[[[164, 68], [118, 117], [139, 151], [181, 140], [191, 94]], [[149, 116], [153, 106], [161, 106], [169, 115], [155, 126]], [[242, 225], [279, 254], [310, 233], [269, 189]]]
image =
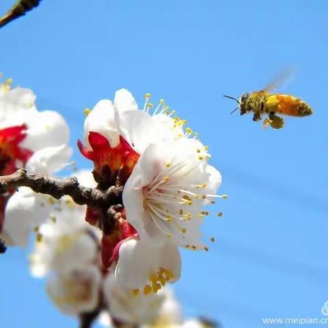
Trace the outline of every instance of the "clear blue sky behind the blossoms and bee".
[[[13, 1], [1, 1], [0, 12]], [[184, 251], [176, 293], [186, 316], [227, 328], [262, 317], [321, 317], [328, 300], [327, 14], [325, 0], [42, 1], [0, 30], [0, 71], [83, 135], [83, 109], [126, 87], [165, 98], [209, 146], [222, 193], [204, 225], [208, 253]], [[282, 92], [314, 115], [264, 131], [232, 100], [284, 66]], [[77, 148], [75, 148], [77, 150]], [[90, 166], [78, 152], [79, 167]], [[27, 251], [1, 256], [0, 327], [76, 327], [29, 277]], [[297, 327], [297, 325], [294, 325]], [[304, 326], [302, 326], [304, 327]]]

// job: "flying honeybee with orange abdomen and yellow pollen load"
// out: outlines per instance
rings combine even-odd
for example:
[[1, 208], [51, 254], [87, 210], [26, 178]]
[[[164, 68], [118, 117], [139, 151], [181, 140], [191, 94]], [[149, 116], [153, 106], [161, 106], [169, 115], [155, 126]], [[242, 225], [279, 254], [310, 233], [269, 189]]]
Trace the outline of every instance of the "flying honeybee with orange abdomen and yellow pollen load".
[[231, 113], [234, 113], [237, 109], [240, 109], [241, 115], [252, 112], [254, 113], [254, 122], [262, 120], [262, 115], [267, 113], [268, 117], [263, 121], [263, 128], [267, 128], [269, 125], [272, 128], [282, 128], [284, 126], [284, 119], [276, 113], [297, 117], [312, 115], [313, 111], [310, 105], [300, 98], [290, 94], [271, 94], [288, 77], [290, 77], [290, 72], [284, 71], [263, 90], [242, 94], [239, 100], [224, 95], [224, 97], [238, 102], [238, 107]]

